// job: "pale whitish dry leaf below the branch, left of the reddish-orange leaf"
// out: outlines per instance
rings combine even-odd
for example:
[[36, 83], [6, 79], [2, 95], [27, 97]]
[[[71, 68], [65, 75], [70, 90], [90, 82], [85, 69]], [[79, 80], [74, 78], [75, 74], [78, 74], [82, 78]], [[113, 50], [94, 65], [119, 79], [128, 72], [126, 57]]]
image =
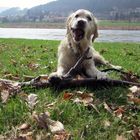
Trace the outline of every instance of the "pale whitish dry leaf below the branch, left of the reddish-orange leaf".
[[33, 109], [35, 105], [38, 103], [38, 96], [36, 94], [30, 94], [27, 98], [27, 103], [30, 109]]

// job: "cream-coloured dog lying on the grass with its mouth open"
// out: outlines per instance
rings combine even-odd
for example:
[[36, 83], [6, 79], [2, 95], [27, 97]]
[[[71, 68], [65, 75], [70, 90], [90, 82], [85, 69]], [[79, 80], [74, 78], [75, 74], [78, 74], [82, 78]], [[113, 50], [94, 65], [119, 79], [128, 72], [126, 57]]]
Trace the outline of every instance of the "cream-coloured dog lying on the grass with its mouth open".
[[74, 12], [68, 17], [66, 27], [66, 37], [58, 48], [57, 72], [50, 76], [61, 77], [65, 75], [87, 47], [90, 48], [88, 57], [92, 57], [92, 59], [85, 60], [81, 68], [89, 77], [106, 78], [106, 74], [99, 71], [95, 63], [120, 68], [111, 65], [92, 47], [92, 42], [98, 37], [98, 28], [96, 18], [91, 12], [83, 9]]

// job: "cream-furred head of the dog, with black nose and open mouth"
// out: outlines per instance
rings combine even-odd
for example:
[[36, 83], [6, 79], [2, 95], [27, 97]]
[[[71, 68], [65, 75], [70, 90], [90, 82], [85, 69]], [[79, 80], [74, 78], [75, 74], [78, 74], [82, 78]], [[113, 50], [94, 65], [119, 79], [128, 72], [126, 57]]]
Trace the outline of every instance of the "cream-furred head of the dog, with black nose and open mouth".
[[84, 9], [80, 9], [71, 14], [66, 22], [67, 34], [71, 36], [75, 43], [81, 40], [92, 41], [98, 37], [97, 22], [94, 15]]

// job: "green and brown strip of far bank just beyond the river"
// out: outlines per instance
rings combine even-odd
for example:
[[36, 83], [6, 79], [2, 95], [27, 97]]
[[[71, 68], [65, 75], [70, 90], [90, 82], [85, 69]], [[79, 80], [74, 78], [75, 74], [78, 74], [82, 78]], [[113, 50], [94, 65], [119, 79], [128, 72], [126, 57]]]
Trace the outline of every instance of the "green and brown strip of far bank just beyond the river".
[[[98, 21], [100, 30], [140, 30], [140, 22], [128, 21]], [[43, 28], [43, 29], [65, 29], [63, 23], [47, 22], [20, 22], [20, 23], [0, 23], [0, 28]]]

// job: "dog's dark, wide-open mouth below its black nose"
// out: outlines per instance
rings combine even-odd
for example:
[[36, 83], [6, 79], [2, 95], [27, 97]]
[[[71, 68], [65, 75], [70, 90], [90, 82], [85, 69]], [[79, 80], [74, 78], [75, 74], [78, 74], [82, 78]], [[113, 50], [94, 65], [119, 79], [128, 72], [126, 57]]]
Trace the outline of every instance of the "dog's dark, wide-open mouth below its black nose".
[[80, 29], [80, 28], [71, 28], [72, 29], [72, 32], [73, 32], [73, 37], [75, 39], [75, 41], [80, 41], [84, 38], [84, 35], [85, 35], [85, 32], [83, 29]]

